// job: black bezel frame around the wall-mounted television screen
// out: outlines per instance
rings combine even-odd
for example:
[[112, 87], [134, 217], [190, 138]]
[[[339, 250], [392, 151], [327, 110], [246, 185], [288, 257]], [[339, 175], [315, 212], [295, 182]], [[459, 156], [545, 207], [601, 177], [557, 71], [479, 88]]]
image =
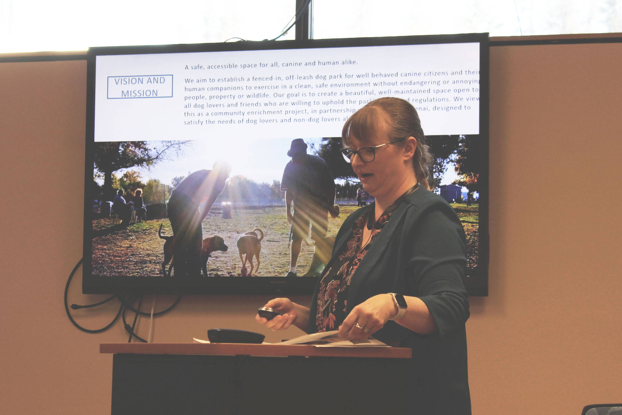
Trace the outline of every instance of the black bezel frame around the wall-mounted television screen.
[[[274, 294], [281, 296], [311, 294], [317, 277], [200, 277], [175, 279], [153, 276], [93, 276], [92, 233], [93, 213], [89, 185], [93, 180], [93, 147], [95, 143], [95, 67], [99, 55], [177, 54], [188, 52], [222, 52], [276, 49], [322, 49], [387, 45], [425, 45], [447, 43], [480, 44], [480, 133], [481, 172], [479, 192], [478, 278], [481, 286], [470, 289], [470, 296], [488, 296], [488, 111], [490, 54], [488, 33], [417, 35], [396, 37], [357, 37], [342, 39], [281, 40], [262, 42], [223, 42], [205, 44], [142, 45], [91, 47], [86, 54], [86, 146], [85, 146], [85, 204], [83, 244], [83, 294]], [[339, 132], [337, 132], [339, 133]]]

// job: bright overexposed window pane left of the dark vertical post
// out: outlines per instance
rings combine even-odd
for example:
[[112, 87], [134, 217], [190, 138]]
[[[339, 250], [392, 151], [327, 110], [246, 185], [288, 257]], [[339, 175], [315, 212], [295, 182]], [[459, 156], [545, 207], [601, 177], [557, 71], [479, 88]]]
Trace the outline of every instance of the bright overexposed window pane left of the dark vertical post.
[[0, 0], [0, 53], [274, 39], [294, 12], [295, 0]]

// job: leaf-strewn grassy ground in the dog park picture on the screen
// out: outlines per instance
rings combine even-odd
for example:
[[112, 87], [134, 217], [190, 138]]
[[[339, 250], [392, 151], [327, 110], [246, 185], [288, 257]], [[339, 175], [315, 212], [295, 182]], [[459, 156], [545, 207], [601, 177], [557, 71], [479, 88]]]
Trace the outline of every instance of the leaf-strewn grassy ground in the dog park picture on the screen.
[[[465, 228], [468, 241], [467, 266], [475, 267], [478, 257], [478, 206], [473, 204], [453, 204]], [[335, 236], [341, 224], [356, 206], [341, 206], [340, 215], [328, 219], [328, 235]], [[285, 207], [257, 207], [233, 210], [231, 219], [223, 219], [220, 210], [213, 209], [203, 220], [203, 238], [221, 236], [229, 249], [226, 252], [216, 251], [211, 254], [207, 263], [210, 276], [239, 276], [241, 261], [236, 241], [244, 232], [259, 227], [264, 231], [261, 241], [261, 255], [257, 276], [284, 276], [289, 269], [289, 223], [285, 215]], [[119, 220], [102, 218], [93, 220], [93, 230], [101, 231], [118, 225]], [[93, 274], [100, 276], [153, 276], [162, 277], [162, 261], [164, 259], [164, 240], [158, 237], [158, 229], [162, 224], [162, 235], [172, 235], [170, 222], [164, 220], [148, 220], [132, 222], [124, 228], [109, 235], [93, 238]], [[299, 275], [307, 272], [313, 256], [313, 246], [302, 243], [297, 264]]]

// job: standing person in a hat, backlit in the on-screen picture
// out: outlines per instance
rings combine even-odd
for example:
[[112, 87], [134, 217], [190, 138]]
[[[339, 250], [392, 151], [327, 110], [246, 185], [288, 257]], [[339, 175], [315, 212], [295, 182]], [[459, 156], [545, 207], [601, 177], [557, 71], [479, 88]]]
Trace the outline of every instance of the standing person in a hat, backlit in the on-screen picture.
[[305, 276], [319, 276], [332, 250], [326, 238], [328, 213], [333, 218], [339, 215], [339, 207], [334, 204], [335, 180], [321, 157], [307, 154], [307, 143], [302, 138], [292, 141], [287, 156], [292, 157], [292, 161], [285, 166], [281, 190], [285, 192], [287, 221], [292, 224], [292, 246], [289, 271], [285, 276], [298, 275], [296, 264], [302, 240], [309, 238], [309, 228], [315, 252]]

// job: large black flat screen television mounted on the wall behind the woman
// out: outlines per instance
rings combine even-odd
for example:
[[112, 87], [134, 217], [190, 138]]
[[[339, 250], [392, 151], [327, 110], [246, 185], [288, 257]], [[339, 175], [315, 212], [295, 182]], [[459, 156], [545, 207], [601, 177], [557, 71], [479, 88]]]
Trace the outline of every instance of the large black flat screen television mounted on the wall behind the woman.
[[[340, 207], [330, 240], [373, 200], [357, 194], [338, 149], [350, 114], [381, 96], [417, 108], [436, 157], [435, 192], [465, 226], [468, 291], [488, 294], [488, 34], [95, 47], [87, 75], [85, 294], [312, 292], [309, 235], [297, 276], [285, 277], [288, 151], [296, 140], [327, 163]], [[219, 162], [230, 175], [200, 227], [220, 243], [199, 276], [176, 277], [170, 261], [163, 268], [167, 203], [183, 180]], [[236, 241], [260, 238], [256, 228], [261, 263], [243, 276]]]

